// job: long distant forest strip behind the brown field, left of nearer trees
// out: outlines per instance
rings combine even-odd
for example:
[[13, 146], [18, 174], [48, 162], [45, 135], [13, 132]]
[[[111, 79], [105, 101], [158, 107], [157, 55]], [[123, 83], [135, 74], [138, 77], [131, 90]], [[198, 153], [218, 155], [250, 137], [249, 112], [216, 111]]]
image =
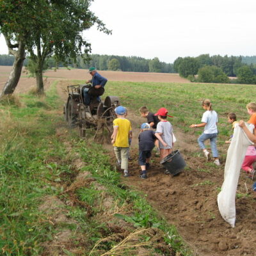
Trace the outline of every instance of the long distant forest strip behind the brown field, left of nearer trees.
[[[14, 57], [12, 55], [3, 54], [0, 55], [0, 65], [11, 66], [13, 64]], [[28, 64], [28, 60], [24, 62], [24, 65]], [[47, 60], [48, 67], [63, 67], [62, 63], [57, 63], [54, 58]], [[83, 56], [77, 58], [77, 63], [69, 63], [70, 67], [75, 68], [89, 68], [91, 66], [96, 67], [99, 70], [121, 70], [131, 72], [162, 72], [162, 73], [174, 73], [173, 64], [159, 61], [158, 58], [147, 60], [136, 56], [125, 57], [115, 55], [90, 55], [90, 60], [86, 60]]]

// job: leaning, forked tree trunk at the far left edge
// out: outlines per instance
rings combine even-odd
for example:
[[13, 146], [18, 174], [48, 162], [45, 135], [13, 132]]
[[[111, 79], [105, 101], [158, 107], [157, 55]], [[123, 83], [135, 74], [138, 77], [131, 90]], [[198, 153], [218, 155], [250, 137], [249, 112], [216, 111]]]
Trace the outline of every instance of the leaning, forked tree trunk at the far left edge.
[[24, 44], [24, 42], [22, 42], [22, 40], [20, 40], [20, 42], [18, 44], [19, 46], [15, 45], [16, 47], [18, 47], [17, 51], [13, 50], [14, 45], [11, 45], [10, 41], [7, 42], [7, 39], [6, 39], [6, 44], [9, 49], [9, 54], [12, 54], [13, 56], [15, 56], [15, 60], [12, 65], [12, 71], [10, 72], [9, 79], [6, 82], [6, 84], [4, 85], [4, 88], [3, 88], [3, 91], [1, 92], [0, 98], [3, 97], [4, 95], [12, 94], [14, 92], [17, 84], [19, 83], [20, 74], [21, 74], [21, 70], [23, 67], [23, 62], [24, 62], [25, 56], [26, 56], [25, 44]]

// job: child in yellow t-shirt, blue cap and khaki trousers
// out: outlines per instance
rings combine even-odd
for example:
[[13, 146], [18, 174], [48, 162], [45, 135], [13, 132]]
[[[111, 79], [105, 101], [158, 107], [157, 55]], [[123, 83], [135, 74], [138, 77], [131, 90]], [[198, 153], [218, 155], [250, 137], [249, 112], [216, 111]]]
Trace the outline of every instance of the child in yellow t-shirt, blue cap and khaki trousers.
[[111, 135], [111, 143], [114, 146], [117, 162], [124, 169], [124, 177], [128, 177], [128, 140], [132, 138], [131, 122], [125, 118], [126, 108], [123, 106], [118, 106], [115, 113], [117, 118], [113, 121], [114, 131]]

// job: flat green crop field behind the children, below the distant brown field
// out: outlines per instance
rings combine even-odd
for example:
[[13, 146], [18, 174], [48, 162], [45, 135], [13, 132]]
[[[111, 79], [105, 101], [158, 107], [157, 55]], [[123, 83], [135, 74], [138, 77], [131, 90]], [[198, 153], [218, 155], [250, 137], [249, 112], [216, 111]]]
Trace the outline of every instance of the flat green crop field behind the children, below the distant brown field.
[[[75, 82], [75, 81], [74, 81]], [[84, 83], [84, 81], [76, 81]], [[204, 113], [202, 100], [210, 99], [213, 109], [218, 113], [218, 140], [221, 145], [232, 134], [227, 123], [227, 115], [234, 112], [237, 120], [248, 120], [246, 104], [255, 101], [255, 85], [248, 84], [198, 84], [198, 83], [136, 83], [109, 81], [104, 95], [116, 95], [120, 103], [140, 115], [139, 108], [147, 106], [151, 112], [167, 108], [168, 118], [173, 127], [198, 135], [202, 129], [190, 129], [189, 125], [199, 124]], [[128, 117], [129, 118], [129, 115]]]

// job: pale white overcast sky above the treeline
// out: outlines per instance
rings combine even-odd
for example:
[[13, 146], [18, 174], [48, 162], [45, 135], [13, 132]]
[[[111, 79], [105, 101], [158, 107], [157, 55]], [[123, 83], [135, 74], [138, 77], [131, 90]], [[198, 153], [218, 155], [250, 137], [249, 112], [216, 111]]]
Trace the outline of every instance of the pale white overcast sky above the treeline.
[[[93, 54], [159, 58], [256, 55], [255, 0], [94, 0], [112, 35], [84, 32]], [[0, 54], [8, 50], [0, 36]]]

